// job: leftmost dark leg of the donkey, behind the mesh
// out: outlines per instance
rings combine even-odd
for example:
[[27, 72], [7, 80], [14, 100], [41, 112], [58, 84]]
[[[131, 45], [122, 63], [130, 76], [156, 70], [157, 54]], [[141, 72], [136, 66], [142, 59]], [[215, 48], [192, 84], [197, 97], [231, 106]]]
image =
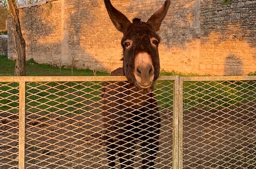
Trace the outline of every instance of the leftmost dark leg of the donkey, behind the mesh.
[[107, 145], [107, 155], [108, 155], [108, 168], [113, 169], [115, 167], [115, 155], [117, 155], [117, 145], [114, 144], [114, 140], [109, 139], [109, 142]]

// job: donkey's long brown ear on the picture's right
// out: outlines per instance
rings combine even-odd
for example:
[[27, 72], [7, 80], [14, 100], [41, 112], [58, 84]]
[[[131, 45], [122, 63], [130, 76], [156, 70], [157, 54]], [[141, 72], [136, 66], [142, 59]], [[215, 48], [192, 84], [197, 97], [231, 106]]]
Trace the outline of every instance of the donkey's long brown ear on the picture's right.
[[170, 0], [166, 0], [164, 5], [148, 19], [147, 23], [152, 26], [154, 31], [159, 31], [160, 25], [168, 11], [170, 3]]

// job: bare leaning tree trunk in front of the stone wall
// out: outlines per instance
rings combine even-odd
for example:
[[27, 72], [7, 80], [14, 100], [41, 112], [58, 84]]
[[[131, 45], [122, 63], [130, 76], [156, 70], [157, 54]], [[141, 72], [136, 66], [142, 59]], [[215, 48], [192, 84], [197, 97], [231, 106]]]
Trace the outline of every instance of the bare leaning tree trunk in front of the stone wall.
[[21, 33], [19, 10], [15, 0], [8, 0], [9, 9], [12, 16], [14, 35], [16, 41], [17, 60], [15, 64], [15, 76], [25, 76], [25, 61], [26, 61], [26, 43]]

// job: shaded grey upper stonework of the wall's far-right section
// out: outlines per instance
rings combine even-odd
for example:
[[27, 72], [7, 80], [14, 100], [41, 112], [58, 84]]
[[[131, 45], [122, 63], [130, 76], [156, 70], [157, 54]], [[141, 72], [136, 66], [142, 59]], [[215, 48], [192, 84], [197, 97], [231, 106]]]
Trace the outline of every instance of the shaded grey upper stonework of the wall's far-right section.
[[[230, 4], [223, 4], [222, 1], [212, 3], [201, 3], [201, 36], [208, 37], [212, 31], [217, 30], [222, 33], [220, 41], [228, 38], [246, 40], [251, 48], [256, 47], [255, 36], [256, 20], [255, 1], [243, 0], [233, 1]], [[248, 10], [244, 10], [244, 8]], [[212, 9], [212, 10], [205, 10]], [[212, 21], [209, 21], [211, 16]], [[229, 31], [228, 27], [232, 27]]]

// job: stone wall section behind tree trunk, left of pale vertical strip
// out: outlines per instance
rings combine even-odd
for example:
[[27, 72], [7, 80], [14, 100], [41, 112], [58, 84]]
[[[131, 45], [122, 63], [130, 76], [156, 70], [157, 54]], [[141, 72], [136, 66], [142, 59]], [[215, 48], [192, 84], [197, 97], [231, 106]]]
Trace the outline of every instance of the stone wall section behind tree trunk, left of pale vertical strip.
[[[53, 1], [20, 9], [22, 35], [26, 42], [26, 59], [39, 63], [61, 61], [61, 2]], [[16, 58], [12, 21], [8, 18], [8, 58]]]

